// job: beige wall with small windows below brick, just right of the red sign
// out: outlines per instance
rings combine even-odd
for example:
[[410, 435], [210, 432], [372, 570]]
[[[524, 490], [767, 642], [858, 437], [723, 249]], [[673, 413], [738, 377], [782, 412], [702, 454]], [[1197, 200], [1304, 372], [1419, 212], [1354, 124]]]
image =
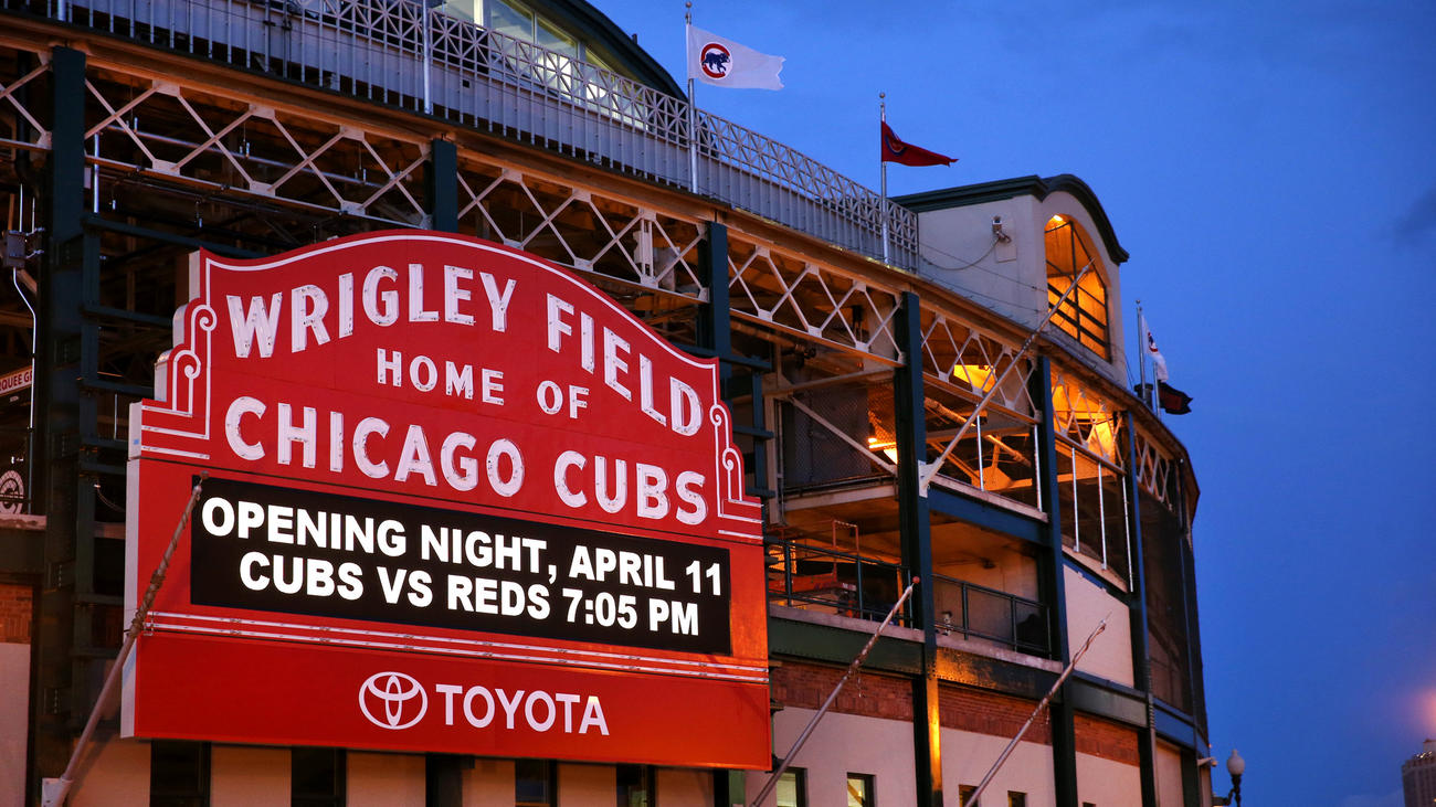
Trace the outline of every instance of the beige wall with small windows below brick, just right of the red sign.
[[[787, 708], [773, 717], [773, 752], [783, 755], [803, 727], [813, 718], [813, 709]], [[808, 804], [813, 807], [847, 804], [847, 774], [872, 774], [879, 804], [913, 804], [912, 724], [883, 718], [829, 714], [817, 731], [793, 760], [793, 765], [807, 770]], [[768, 774], [750, 773], [745, 790], [751, 803]], [[659, 800], [668, 806], [668, 794], [658, 787]], [[763, 803], [774, 804], [774, 797]]]

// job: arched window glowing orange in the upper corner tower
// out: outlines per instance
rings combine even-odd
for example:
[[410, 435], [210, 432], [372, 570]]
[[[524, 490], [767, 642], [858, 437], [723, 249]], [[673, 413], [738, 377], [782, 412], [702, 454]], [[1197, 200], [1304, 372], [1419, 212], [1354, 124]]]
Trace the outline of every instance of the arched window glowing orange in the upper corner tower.
[[1111, 359], [1111, 337], [1107, 330], [1107, 283], [1101, 279], [1101, 260], [1080, 227], [1066, 215], [1047, 220], [1047, 304], [1057, 300], [1071, 287], [1073, 279], [1087, 264], [1091, 271], [1083, 276], [1077, 289], [1053, 314], [1053, 323], [1066, 330], [1078, 345]]

